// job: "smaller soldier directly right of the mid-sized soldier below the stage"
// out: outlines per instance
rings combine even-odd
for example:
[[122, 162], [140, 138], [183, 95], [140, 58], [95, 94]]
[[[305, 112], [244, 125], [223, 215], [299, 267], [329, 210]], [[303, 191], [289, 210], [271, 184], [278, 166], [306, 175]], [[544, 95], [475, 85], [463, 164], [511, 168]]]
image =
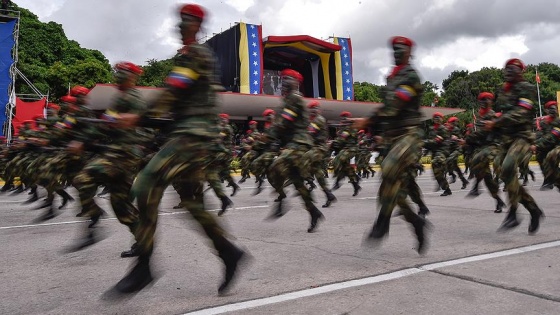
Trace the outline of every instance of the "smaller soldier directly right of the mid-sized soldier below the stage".
[[321, 115], [321, 108], [318, 101], [309, 102], [307, 108], [309, 109], [308, 130], [313, 139], [313, 147], [303, 156], [304, 177], [311, 183], [313, 183], [313, 178], [317, 179], [317, 183], [319, 183], [319, 186], [327, 197], [327, 202], [323, 205], [323, 208], [327, 208], [336, 201], [336, 197], [327, 186], [325, 172], [323, 170], [323, 164], [328, 154], [327, 137], [329, 131], [327, 120]]

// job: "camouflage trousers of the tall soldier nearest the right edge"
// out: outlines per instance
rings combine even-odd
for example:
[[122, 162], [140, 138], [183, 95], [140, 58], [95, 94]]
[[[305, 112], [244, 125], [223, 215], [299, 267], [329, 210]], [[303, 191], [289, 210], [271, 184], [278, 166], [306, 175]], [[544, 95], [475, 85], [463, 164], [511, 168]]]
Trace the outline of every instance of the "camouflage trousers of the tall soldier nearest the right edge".
[[529, 212], [537, 211], [538, 207], [535, 200], [517, 179], [517, 170], [526, 160], [530, 143], [526, 139], [516, 139], [508, 144], [504, 144], [504, 158], [502, 160], [500, 178], [504, 181], [508, 192], [510, 207], [513, 211], [517, 210], [521, 203]]

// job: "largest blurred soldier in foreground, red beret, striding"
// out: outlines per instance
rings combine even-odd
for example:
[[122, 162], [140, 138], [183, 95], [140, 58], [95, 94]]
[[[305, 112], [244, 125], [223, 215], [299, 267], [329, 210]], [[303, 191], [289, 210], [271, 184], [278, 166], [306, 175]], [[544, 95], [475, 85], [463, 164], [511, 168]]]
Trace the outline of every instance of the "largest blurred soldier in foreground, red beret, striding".
[[224, 229], [204, 208], [203, 182], [213, 154], [208, 143], [219, 137], [216, 92], [223, 87], [219, 85], [212, 51], [196, 42], [196, 34], [205, 16], [204, 9], [186, 4], [181, 6], [180, 16], [184, 46], [174, 58], [175, 66], [166, 79], [167, 88], [152, 110], [171, 111], [175, 117], [174, 128], [168, 141], [140, 171], [131, 190], [139, 210], [136, 239], [140, 255], [134, 268], [115, 287], [123, 293], [139, 291], [153, 280], [150, 257], [158, 207], [167, 186], [179, 176], [183, 206], [201, 224], [225, 265], [219, 293], [230, 287], [238, 263], [245, 254], [225, 237]]

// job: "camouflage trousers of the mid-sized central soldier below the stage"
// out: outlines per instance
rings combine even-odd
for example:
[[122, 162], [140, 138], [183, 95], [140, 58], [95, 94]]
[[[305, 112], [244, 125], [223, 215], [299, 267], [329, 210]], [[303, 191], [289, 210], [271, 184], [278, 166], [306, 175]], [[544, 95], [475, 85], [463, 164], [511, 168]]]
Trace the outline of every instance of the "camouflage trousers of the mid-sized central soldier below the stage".
[[311, 193], [304, 185], [303, 156], [308, 151], [307, 146], [294, 146], [282, 150], [282, 153], [270, 166], [269, 182], [276, 192], [285, 197], [284, 183], [290, 179], [300, 194], [307, 211], [315, 208]]

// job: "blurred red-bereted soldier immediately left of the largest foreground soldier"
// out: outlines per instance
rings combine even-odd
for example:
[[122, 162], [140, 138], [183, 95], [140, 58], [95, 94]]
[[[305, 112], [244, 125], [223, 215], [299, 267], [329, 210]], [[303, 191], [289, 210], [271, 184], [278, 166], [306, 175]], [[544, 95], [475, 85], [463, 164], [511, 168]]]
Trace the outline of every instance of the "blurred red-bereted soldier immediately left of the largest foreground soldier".
[[[94, 235], [94, 225], [104, 211], [97, 205], [94, 197], [100, 185], [109, 189], [111, 206], [119, 222], [126, 225], [132, 235], [136, 232], [138, 210], [132, 205], [129, 193], [142, 158], [141, 138], [135, 128], [123, 126], [120, 122], [123, 119], [137, 119], [146, 110], [140, 92], [136, 89], [136, 82], [141, 74], [142, 68], [131, 62], [116, 64], [115, 82], [119, 92], [102, 116], [107, 123], [99, 123], [96, 128], [86, 129], [68, 144], [69, 150], [77, 155], [82, 154], [84, 147], [91, 147], [97, 152], [73, 180], [80, 195], [81, 214], [89, 216], [93, 224], [71, 250], [83, 249], [98, 240]], [[97, 139], [107, 141], [99, 143]], [[121, 254], [122, 257], [136, 255], [136, 245]]]

